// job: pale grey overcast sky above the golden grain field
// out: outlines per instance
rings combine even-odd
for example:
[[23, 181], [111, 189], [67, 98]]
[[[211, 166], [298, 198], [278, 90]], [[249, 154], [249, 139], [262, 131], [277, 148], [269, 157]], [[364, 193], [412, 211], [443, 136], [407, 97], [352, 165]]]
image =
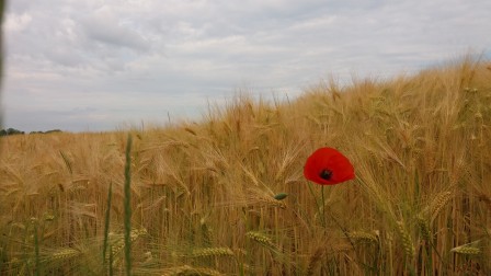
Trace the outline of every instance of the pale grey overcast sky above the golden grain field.
[[491, 57], [489, 0], [11, 0], [3, 126], [114, 130], [199, 118], [238, 90]]

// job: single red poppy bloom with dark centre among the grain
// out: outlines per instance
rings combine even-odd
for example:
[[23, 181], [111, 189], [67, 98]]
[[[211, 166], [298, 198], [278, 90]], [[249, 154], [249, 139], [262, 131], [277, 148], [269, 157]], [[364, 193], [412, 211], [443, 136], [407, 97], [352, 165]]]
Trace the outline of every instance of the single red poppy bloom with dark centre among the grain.
[[353, 180], [355, 171], [350, 160], [338, 150], [320, 148], [307, 159], [304, 175], [320, 185], [335, 185]]

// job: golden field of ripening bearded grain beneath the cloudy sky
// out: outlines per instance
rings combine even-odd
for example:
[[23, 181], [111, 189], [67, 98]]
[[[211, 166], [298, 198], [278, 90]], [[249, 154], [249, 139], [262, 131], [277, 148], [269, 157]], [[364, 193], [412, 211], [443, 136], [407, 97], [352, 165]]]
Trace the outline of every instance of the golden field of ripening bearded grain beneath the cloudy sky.
[[[490, 127], [491, 64], [463, 58], [198, 123], [3, 137], [0, 274], [490, 275]], [[320, 147], [355, 180], [305, 180]]]

